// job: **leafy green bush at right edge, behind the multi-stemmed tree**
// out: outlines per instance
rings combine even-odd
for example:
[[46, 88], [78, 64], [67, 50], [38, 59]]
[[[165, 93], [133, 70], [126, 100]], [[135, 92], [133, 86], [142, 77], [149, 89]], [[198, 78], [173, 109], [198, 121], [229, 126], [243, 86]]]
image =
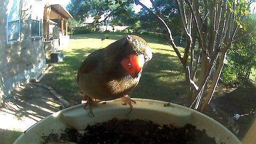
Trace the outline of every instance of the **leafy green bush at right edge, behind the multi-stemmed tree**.
[[237, 41], [228, 50], [228, 63], [222, 74], [223, 83], [242, 83], [241, 78], [249, 78], [248, 74], [251, 74], [252, 67], [256, 66], [255, 25], [256, 19], [253, 17], [246, 18], [243, 26], [239, 25], [243, 29], [239, 29]]

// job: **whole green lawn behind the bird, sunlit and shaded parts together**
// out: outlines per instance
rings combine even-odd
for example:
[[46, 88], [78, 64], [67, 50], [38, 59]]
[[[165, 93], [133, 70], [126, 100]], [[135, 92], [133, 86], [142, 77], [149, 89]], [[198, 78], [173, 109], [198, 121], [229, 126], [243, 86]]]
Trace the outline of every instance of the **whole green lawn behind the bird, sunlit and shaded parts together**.
[[[79, 66], [91, 52], [106, 47], [128, 33], [95, 33], [73, 35], [65, 50], [61, 63], [54, 64], [53, 73], [42, 79], [42, 83], [52, 86], [69, 102], [80, 102], [82, 91], [76, 83]], [[108, 36], [109, 39], [101, 41]], [[139, 85], [130, 93], [132, 98], [148, 98], [172, 101], [186, 94], [188, 86], [184, 82], [183, 69], [173, 49], [159, 36], [139, 35], [146, 39], [153, 49], [154, 58], [143, 69]], [[179, 47], [183, 51], [182, 47]]]

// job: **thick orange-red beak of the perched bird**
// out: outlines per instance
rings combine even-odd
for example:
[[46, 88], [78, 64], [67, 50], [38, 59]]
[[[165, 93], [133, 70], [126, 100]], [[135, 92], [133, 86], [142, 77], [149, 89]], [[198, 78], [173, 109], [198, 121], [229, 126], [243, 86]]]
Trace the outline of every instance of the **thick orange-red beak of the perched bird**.
[[136, 78], [138, 76], [144, 63], [145, 59], [142, 54], [131, 54], [121, 61], [122, 67], [125, 69], [125, 71], [127, 71], [129, 75], [131, 75], [132, 78]]

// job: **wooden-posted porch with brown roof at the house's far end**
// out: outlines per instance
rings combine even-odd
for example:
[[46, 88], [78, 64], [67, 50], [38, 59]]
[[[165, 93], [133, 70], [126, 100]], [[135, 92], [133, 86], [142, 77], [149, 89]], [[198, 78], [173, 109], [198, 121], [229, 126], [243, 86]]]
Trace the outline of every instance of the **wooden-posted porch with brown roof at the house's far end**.
[[[45, 57], [50, 59], [51, 53], [66, 47], [69, 42], [68, 19], [73, 16], [61, 5], [45, 5], [44, 9], [44, 47]], [[56, 23], [52, 26], [52, 23]]]

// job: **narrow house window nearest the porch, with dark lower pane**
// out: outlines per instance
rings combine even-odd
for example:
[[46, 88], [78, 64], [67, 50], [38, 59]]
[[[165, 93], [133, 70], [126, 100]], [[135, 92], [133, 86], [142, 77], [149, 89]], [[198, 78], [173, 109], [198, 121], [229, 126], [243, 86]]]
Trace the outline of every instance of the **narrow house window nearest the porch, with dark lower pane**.
[[31, 5], [31, 38], [40, 37], [40, 20], [38, 19], [38, 10], [41, 10], [41, 4], [34, 1]]

